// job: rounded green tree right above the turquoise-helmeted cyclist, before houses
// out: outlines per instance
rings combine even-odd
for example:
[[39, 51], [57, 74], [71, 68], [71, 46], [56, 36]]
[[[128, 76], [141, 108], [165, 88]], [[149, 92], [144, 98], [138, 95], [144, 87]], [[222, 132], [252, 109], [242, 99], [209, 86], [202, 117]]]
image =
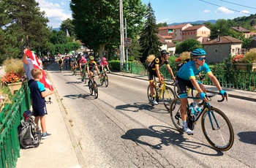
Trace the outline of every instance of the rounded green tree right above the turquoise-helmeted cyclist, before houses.
[[185, 39], [176, 45], [176, 53], [183, 53], [185, 51], [192, 51], [198, 47], [203, 47], [196, 39]]

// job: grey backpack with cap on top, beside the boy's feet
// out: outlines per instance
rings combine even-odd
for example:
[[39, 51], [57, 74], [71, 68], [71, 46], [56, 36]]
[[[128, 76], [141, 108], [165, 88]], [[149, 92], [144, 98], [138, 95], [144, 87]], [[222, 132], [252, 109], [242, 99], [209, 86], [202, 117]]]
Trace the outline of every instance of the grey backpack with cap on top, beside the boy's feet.
[[24, 119], [20, 121], [20, 126], [18, 126], [18, 137], [20, 146], [23, 149], [37, 148], [42, 139], [41, 130], [39, 126], [34, 123], [31, 114], [32, 112], [30, 110], [24, 112]]

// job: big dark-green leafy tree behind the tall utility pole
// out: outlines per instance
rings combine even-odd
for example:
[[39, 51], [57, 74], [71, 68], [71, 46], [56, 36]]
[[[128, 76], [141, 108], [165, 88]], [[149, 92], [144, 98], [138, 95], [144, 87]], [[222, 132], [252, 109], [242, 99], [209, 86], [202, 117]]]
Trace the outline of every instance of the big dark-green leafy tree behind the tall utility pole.
[[[145, 5], [140, 0], [124, 0], [124, 18], [127, 18], [127, 34], [131, 39], [137, 38], [140, 31]], [[120, 16], [118, 0], [72, 0], [72, 23], [77, 38], [86, 47], [99, 53], [102, 57], [105, 46], [118, 48], [120, 44]]]

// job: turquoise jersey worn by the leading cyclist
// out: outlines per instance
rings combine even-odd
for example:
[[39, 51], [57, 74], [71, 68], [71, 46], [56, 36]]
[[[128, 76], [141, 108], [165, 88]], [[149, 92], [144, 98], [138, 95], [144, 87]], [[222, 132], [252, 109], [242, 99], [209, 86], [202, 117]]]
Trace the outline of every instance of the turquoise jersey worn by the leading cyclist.
[[195, 76], [198, 75], [200, 72], [205, 72], [206, 75], [212, 74], [209, 66], [205, 63], [203, 66], [199, 66], [197, 69], [195, 67], [195, 61], [189, 61], [178, 71], [177, 76], [184, 80], [195, 79]]

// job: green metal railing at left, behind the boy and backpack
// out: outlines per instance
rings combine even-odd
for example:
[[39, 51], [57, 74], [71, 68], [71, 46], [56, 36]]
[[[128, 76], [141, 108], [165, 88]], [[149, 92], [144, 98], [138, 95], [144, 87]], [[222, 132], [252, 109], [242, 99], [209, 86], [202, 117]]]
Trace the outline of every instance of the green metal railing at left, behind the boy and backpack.
[[0, 167], [15, 167], [20, 157], [18, 126], [23, 112], [30, 109], [30, 91], [27, 83], [12, 98], [12, 104], [4, 106], [0, 113]]

